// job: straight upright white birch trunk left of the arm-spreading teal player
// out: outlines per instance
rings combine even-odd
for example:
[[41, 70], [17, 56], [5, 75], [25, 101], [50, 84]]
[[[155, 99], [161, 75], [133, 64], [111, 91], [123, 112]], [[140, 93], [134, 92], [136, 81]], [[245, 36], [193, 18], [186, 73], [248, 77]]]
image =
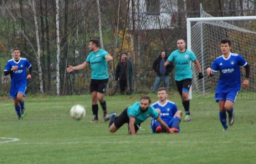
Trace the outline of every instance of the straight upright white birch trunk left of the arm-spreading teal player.
[[59, 27], [59, 0], [56, 0], [56, 38], [57, 38], [57, 64], [56, 64], [56, 87], [57, 96], [60, 96], [60, 27]]

